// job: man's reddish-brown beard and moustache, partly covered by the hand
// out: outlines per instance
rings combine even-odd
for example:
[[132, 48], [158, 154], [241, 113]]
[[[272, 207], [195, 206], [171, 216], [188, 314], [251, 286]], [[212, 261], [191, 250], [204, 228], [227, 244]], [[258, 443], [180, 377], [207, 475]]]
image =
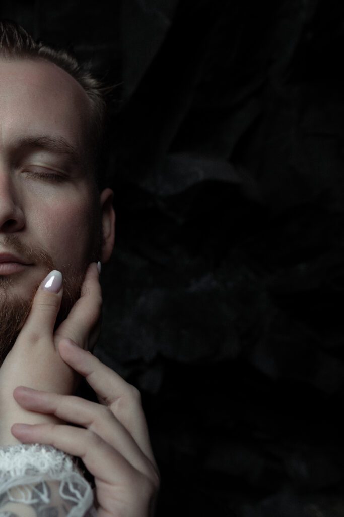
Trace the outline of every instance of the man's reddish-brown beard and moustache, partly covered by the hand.
[[[99, 235], [99, 237], [95, 239], [93, 249], [89, 251], [89, 256], [81, 268], [75, 270], [71, 264], [63, 264], [62, 267], [60, 267], [63, 276], [63, 296], [61, 308], [56, 318], [55, 328], [68, 316], [74, 303], [79, 299], [81, 285], [88, 265], [90, 262], [99, 260], [102, 236], [101, 232], [97, 232], [96, 235]], [[15, 235], [6, 235], [1, 239], [1, 244], [5, 249], [17, 252], [21, 257], [25, 258], [27, 262], [35, 266], [43, 266], [43, 268], [46, 269], [46, 275], [53, 269], [59, 269], [54, 264], [52, 257], [44, 249], [29, 248]], [[23, 299], [10, 293], [10, 287], [14, 283], [15, 275], [0, 275], [0, 366], [10, 352], [26, 321], [36, 291], [40, 285], [40, 282], [37, 283], [29, 294], [29, 297]]]

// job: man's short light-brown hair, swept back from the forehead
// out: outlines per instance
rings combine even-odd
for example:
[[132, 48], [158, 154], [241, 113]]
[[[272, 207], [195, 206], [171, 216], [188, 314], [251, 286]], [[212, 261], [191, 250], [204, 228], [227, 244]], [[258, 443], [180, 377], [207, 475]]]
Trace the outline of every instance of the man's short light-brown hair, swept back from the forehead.
[[34, 38], [18, 23], [0, 20], [0, 57], [11, 59], [45, 59], [68, 72], [84, 88], [90, 100], [90, 124], [88, 141], [90, 158], [97, 186], [103, 183], [105, 153], [106, 87], [93, 77], [85, 63], [79, 64], [76, 58], [65, 50], [55, 50]]

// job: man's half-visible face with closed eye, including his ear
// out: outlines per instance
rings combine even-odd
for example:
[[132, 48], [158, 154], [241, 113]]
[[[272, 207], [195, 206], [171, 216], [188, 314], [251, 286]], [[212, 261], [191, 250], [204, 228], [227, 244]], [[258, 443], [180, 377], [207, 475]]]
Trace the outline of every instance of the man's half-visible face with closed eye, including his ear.
[[75, 298], [89, 262], [107, 260], [112, 250], [100, 241], [102, 220], [108, 234], [113, 226], [111, 192], [100, 199], [87, 168], [89, 113], [86, 93], [64, 70], [0, 57], [0, 306], [6, 309], [30, 302], [53, 268]]

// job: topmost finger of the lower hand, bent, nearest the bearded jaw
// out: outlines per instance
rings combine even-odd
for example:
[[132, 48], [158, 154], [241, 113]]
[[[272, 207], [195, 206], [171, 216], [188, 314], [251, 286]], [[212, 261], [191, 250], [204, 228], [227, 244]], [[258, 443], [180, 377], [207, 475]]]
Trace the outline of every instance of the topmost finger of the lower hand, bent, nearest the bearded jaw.
[[156, 466], [138, 390], [70, 340], [59, 343], [59, 352], [63, 361], [86, 378], [99, 400], [111, 410], [143, 454]]

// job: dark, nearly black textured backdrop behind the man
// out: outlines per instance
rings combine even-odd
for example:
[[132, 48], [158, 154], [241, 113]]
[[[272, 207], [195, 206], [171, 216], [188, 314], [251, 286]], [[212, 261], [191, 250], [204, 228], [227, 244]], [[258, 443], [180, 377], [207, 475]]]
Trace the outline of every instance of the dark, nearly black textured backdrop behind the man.
[[1, 15], [117, 85], [96, 355], [142, 393], [157, 517], [342, 517], [344, 3]]

